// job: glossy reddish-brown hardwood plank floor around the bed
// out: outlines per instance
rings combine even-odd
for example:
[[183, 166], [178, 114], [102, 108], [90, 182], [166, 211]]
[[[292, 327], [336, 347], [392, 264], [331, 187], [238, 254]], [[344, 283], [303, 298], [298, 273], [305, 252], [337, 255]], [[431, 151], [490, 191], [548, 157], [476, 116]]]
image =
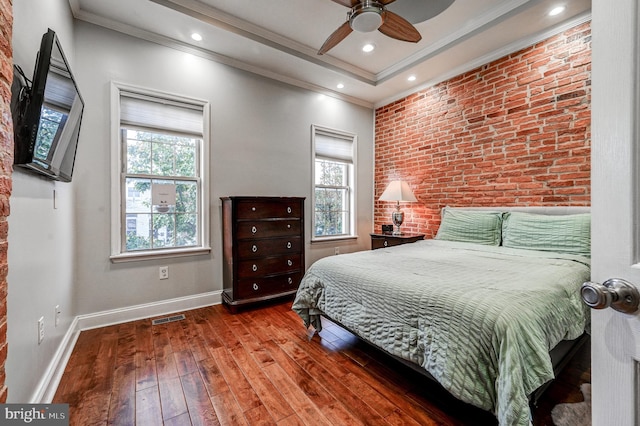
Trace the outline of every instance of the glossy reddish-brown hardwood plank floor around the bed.
[[[83, 331], [54, 401], [71, 425], [495, 425], [439, 385], [325, 321], [309, 341], [286, 301], [230, 314], [217, 305], [162, 325]], [[582, 400], [588, 345], [534, 411]]]

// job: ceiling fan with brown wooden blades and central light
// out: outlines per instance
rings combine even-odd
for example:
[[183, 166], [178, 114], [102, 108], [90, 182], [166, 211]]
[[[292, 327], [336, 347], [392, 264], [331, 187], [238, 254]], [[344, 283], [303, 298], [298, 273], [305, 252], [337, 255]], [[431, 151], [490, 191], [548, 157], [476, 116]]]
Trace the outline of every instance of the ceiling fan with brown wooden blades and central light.
[[322, 55], [344, 40], [353, 30], [371, 32], [378, 30], [397, 40], [417, 43], [422, 39], [418, 30], [406, 19], [386, 8], [396, 0], [333, 0], [351, 8], [347, 21], [324, 42], [318, 55]]

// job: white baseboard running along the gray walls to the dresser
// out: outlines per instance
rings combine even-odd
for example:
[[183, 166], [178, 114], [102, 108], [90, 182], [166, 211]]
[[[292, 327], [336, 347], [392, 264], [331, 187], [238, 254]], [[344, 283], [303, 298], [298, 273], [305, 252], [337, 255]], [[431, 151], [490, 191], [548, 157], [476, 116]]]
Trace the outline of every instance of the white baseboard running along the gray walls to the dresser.
[[212, 291], [194, 296], [145, 303], [93, 314], [78, 315], [73, 319], [54, 358], [49, 364], [49, 368], [47, 368], [44, 376], [40, 380], [38, 388], [31, 398], [32, 403], [48, 404], [53, 400], [60, 380], [62, 379], [62, 374], [67, 367], [67, 362], [69, 362], [69, 357], [73, 352], [73, 348], [82, 330], [122, 324], [124, 322], [188, 311], [205, 306], [218, 305], [220, 303], [222, 303], [222, 291]]

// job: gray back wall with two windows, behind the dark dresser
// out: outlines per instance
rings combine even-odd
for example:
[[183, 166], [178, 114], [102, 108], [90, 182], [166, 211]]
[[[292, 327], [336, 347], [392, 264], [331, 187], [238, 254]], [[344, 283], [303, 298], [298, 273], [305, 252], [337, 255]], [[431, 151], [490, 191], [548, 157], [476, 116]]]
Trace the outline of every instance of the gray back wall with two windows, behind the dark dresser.
[[[343, 252], [369, 247], [373, 194], [373, 111], [284, 85], [216, 62], [113, 32], [76, 24], [74, 70], [85, 100], [76, 159], [78, 314], [222, 289], [220, 197], [303, 196], [310, 235], [311, 124], [358, 135], [358, 232]], [[211, 103], [212, 253], [113, 264], [110, 253], [111, 81]], [[333, 254], [333, 243], [309, 245], [308, 263]], [[169, 279], [158, 267], [169, 266]]]

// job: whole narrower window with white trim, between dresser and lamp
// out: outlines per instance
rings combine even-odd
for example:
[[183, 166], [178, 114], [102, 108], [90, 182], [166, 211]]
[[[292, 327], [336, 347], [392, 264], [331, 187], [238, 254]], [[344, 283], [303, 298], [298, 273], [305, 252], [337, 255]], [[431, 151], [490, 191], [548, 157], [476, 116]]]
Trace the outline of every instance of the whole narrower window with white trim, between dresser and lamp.
[[312, 126], [313, 239], [355, 236], [356, 135]]

